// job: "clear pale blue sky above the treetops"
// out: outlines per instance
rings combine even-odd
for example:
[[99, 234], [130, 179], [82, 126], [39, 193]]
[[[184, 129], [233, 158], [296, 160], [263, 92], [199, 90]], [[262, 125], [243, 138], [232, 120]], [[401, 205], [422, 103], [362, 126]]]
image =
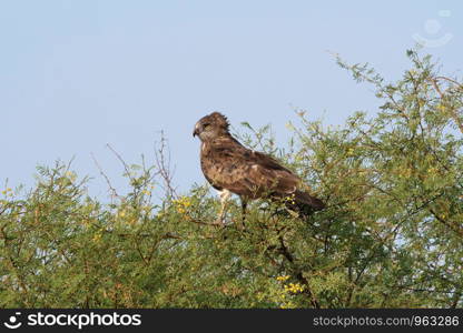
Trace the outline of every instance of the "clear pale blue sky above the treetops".
[[463, 2], [0, 0], [0, 180], [30, 186], [37, 164], [76, 157], [105, 194], [90, 153], [122, 186], [106, 143], [129, 163], [152, 160], [164, 130], [186, 191], [205, 181], [200, 117], [272, 123], [285, 142], [295, 108], [326, 124], [375, 112], [371, 88], [327, 51], [394, 80], [416, 38], [461, 73]]

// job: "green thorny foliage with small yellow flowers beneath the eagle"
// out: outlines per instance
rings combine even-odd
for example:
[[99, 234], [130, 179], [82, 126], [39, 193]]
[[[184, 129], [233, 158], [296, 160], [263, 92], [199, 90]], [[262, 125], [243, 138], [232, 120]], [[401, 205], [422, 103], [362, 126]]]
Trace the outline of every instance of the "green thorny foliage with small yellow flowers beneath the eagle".
[[6, 186], [0, 306], [461, 307], [463, 87], [407, 56], [412, 69], [393, 83], [338, 60], [375, 87], [374, 117], [324, 128], [299, 112], [285, 150], [268, 127], [244, 124], [242, 139], [327, 203], [307, 220], [258, 201], [243, 228], [234, 202], [219, 228], [209, 189], [176, 195], [162, 163], [125, 164], [131, 191], [111, 189], [109, 204], [62, 163], [39, 168], [28, 193]]

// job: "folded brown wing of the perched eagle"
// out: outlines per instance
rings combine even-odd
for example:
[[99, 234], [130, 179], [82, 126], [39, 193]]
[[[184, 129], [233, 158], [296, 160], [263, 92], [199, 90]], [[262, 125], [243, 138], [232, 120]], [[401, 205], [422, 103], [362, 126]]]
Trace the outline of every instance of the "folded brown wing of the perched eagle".
[[293, 193], [301, 180], [267, 154], [252, 151], [233, 138], [209, 143], [203, 159], [206, 179], [217, 189], [258, 198], [265, 194]]

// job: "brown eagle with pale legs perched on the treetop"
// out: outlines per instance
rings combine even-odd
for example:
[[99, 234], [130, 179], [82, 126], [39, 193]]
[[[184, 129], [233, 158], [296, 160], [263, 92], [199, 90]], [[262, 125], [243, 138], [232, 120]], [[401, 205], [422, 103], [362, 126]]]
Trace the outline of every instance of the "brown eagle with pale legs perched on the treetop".
[[[247, 149], [229, 132], [227, 118], [213, 112], [203, 117], [193, 131], [199, 137], [200, 165], [206, 180], [219, 192], [221, 209], [216, 221], [224, 218], [232, 193], [239, 195], [243, 222], [249, 200], [259, 198], [283, 200], [289, 210], [303, 215], [323, 210], [325, 204], [304, 191], [304, 184], [294, 172], [268, 154]], [[306, 188], [306, 186], [305, 186]]]

